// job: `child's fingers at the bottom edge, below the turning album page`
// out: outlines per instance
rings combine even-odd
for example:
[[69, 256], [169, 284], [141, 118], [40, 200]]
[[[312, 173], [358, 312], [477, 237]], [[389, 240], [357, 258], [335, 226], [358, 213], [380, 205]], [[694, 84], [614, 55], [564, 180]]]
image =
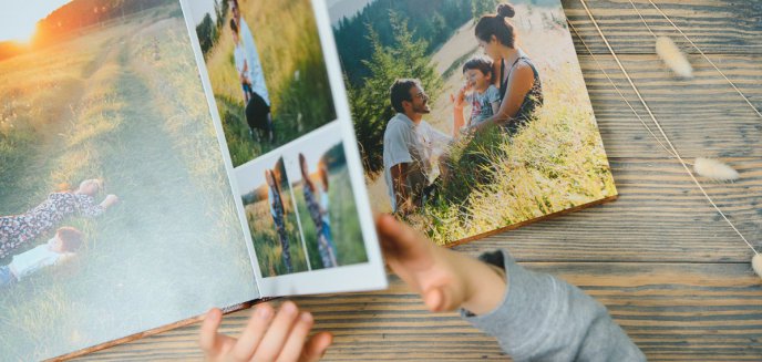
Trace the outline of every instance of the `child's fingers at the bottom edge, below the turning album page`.
[[217, 332], [222, 320], [215, 308], [202, 324], [199, 344], [207, 361], [319, 361], [332, 342], [327, 332], [308, 340], [312, 316], [291, 301], [277, 313], [269, 303], [258, 304], [237, 339]]

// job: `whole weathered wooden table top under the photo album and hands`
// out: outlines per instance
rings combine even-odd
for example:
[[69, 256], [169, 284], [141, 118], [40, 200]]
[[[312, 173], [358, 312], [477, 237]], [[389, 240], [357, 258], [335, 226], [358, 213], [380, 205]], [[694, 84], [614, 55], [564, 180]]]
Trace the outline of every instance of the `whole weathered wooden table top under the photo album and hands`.
[[[578, 0], [564, 8], [617, 86], [646, 115]], [[682, 39], [646, 0], [657, 33]], [[708, 56], [762, 108], [762, 1], [657, 0]], [[697, 77], [665, 76], [653, 38], [627, 0], [589, 1], [667, 134], [686, 158], [719, 157], [741, 179], [707, 183], [709, 194], [762, 250], [762, 118], [700, 55]], [[751, 250], [657, 145], [575, 38], [620, 198], [456, 249], [509, 248], [525, 266], [553, 272], [605, 303], [650, 360], [762, 361], [762, 280]], [[430, 314], [392, 278], [385, 291], [295, 299], [336, 335], [327, 361], [506, 360], [497, 343], [454, 313]], [[249, 311], [226, 318], [237, 332]], [[198, 325], [82, 360], [200, 359]]]

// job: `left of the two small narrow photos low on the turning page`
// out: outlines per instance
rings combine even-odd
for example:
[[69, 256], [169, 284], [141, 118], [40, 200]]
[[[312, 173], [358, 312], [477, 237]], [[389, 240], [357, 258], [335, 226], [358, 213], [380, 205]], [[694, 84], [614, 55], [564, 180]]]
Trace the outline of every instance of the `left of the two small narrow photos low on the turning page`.
[[262, 277], [309, 270], [284, 159], [258, 159], [237, 168], [236, 174]]

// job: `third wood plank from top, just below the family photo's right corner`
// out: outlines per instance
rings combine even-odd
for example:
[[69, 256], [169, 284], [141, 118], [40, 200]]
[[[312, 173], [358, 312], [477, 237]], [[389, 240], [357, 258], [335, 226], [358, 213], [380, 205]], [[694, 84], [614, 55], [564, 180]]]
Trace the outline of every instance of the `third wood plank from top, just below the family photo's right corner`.
[[[742, 177], [704, 183], [718, 206], [762, 250], [762, 159], [729, 161]], [[456, 247], [508, 248], [532, 261], [746, 262], [751, 250], [707, 203], [677, 161], [611, 159], [616, 201]]]

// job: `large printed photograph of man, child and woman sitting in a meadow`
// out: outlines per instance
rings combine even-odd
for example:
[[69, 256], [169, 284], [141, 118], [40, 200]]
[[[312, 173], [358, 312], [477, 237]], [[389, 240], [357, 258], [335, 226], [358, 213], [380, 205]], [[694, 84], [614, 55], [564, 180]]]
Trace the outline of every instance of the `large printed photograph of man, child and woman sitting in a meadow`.
[[329, 0], [371, 205], [440, 245], [616, 197], [559, 0]]

